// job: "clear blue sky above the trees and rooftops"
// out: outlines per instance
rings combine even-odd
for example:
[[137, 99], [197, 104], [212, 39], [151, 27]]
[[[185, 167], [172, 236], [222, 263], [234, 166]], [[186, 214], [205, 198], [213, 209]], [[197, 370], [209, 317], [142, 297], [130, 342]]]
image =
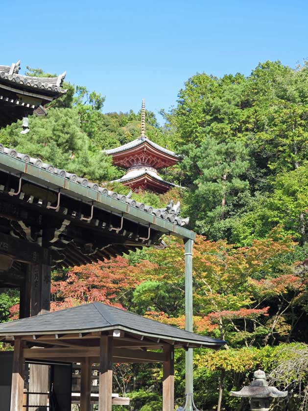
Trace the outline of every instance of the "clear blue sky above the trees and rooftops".
[[[0, 64], [22, 60], [106, 96], [104, 112], [157, 112], [196, 72], [248, 75], [308, 57], [307, 0], [0, 0]], [[21, 72], [22, 73], [22, 72]]]

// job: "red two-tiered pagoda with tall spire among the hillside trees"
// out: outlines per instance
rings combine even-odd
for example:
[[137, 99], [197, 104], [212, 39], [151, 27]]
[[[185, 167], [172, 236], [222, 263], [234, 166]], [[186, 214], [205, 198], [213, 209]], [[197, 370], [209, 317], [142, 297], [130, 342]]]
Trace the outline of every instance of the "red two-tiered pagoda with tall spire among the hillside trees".
[[127, 169], [123, 177], [114, 181], [131, 187], [133, 191], [148, 190], [165, 193], [176, 186], [169, 181], [164, 181], [158, 170], [176, 164], [179, 156], [146, 137], [144, 100], [142, 100], [140, 137], [115, 149], [105, 150], [105, 153], [112, 155], [115, 165]]

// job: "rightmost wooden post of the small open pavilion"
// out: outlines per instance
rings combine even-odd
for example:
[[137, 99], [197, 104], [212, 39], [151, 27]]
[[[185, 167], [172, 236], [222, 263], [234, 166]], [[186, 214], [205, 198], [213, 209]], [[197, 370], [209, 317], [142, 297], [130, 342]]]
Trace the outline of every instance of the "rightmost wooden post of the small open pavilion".
[[164, 346], [166, 361], [163, 363], [163, 411], [174, 410], [174, 347]]

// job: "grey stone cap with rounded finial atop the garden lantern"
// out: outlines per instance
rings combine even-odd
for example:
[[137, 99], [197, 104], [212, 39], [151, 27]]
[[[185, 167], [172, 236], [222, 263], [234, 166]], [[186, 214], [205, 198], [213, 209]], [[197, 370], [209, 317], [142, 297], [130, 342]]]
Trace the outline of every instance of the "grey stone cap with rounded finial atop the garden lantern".
[[265, 381], [265, 372], [257, 370], [254, 372], [254, 380], [251, 385], [243, 387], [240, 391], [231, 391], [233, 397], [241, 398], [276, 398], [286, 397], [287, 391], [279, 391], [276, 387], [269, 387]]

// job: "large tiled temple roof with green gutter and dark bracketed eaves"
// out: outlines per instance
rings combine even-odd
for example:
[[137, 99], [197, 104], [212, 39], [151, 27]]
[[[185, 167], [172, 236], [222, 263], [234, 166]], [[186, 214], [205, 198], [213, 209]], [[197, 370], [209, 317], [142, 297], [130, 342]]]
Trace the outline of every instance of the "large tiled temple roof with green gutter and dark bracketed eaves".
[[52, 267], [97, 262], [143, 246], [165, 248], [163, 234], [195, 238], [183, 227], [188, 220], [179, 204], [155, 209], [0, 144], [2, 211], [1, 241], [21, 255], [16, 261], [31, 257], [23, 250], [49, 250]]

